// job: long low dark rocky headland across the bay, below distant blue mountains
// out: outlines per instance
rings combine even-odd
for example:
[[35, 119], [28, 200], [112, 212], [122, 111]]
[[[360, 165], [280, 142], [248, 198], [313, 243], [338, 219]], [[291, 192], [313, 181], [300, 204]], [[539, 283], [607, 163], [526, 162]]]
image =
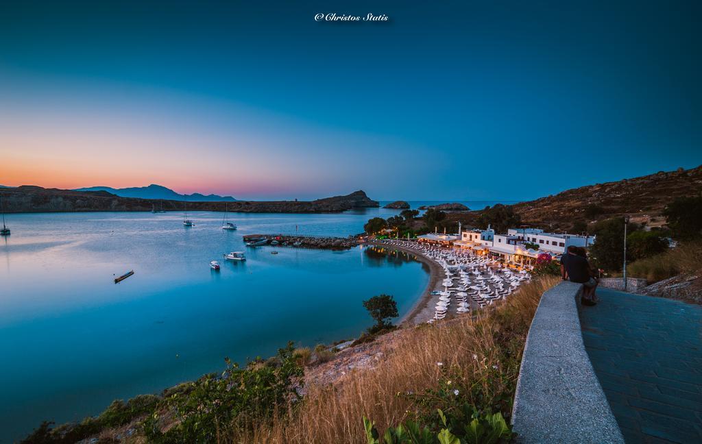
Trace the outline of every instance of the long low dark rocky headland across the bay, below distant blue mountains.
[[[184, 203], [163, 199], [119, 197], [107, 191], [71, 191], [67, 189], [23, 186], [0, 189], [7, 213], [44, 213], [58, 211], [182, 211]], [[340, 213], [351, 208], [378, 207], [377, 201], [364, 191], [316, 201], [235, 201], [227, 202], [230, 211], [240, 213]], [[188, 202], [188, 210], [223, 211], [225, 202]]]

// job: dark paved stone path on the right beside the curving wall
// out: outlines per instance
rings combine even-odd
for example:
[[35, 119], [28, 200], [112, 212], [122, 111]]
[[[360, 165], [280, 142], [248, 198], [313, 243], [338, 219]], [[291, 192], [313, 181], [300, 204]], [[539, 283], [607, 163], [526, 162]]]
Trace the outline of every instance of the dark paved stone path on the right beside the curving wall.
[[583, 341], [627, 443], [702, 443], [702, 306], [597, 290]]

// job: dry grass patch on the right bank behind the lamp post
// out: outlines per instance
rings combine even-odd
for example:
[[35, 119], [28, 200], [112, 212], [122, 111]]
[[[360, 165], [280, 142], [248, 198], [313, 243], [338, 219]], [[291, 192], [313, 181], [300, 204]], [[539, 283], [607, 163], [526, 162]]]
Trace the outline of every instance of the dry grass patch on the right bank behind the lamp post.
[[684, 243], [665, 253], [640, 259], [628, 264], [629, 276], [644, 278], [649, 283], [677, 276], [677, 274], [697, 274], [702, 270], [702, 243]]

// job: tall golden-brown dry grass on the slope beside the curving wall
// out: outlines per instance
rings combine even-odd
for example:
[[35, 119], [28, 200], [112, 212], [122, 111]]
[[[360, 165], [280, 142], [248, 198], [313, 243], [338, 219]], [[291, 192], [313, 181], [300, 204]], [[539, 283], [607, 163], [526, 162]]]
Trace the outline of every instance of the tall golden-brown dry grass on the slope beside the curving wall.
[[[303, 403], [232, 442], [364, 443], [362, 417], [372, 418], [382, 434], [416, 411], [412, 398], [401, 393], [437, 389], [446, 377], [468, 388], [466, 401], [476, 405], [501, 405], [506, 396], [501, 410], [508, 414], [531, 319], [541, 294], [557, 281], [524, 285], [476, 318], [404, 330], [376, 368], [353, 372], [333, 386], [311, 386]], [[481, 399], [474, 399], [476, 393]]]

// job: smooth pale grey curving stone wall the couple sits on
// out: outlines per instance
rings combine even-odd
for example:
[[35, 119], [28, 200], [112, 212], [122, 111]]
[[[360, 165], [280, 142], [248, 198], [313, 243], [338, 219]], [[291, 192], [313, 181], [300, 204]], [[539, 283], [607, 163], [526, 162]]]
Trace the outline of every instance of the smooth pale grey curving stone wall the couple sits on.
[[559, 283], [538, 304], [512, 410], [519, 443], [624, 442], [583, 345], [580, 293]]

